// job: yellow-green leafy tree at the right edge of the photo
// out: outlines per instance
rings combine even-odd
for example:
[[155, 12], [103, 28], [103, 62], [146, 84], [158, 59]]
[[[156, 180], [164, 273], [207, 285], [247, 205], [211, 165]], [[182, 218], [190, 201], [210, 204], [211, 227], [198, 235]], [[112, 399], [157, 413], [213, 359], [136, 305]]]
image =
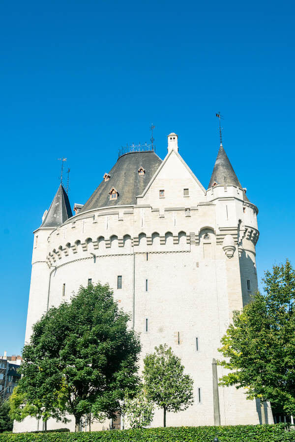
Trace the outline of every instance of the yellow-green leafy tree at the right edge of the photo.
[[295, 414], [295, 271], [291, 263], [273, 266], [259, 292], [223, 336], [220, 362], [231, 371], [221, 385], [246, 388], [247, 398], [261, 398]]

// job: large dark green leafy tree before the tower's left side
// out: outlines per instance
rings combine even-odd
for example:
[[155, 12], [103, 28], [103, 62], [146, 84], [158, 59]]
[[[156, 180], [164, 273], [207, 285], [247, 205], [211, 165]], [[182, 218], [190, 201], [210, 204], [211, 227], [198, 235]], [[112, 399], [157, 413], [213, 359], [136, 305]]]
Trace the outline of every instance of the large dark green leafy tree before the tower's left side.
[[25, 412], [42, 413], [43, 420], [73, 414], [79, 431], [83, 415], [113, 417], [120, 410], [124, 391], [138, 382], [140, 343], [112, 295], [108, 285], [81, 287], [71, 303], [35, 323], [18, 384], [26, 406], [35, 407]]

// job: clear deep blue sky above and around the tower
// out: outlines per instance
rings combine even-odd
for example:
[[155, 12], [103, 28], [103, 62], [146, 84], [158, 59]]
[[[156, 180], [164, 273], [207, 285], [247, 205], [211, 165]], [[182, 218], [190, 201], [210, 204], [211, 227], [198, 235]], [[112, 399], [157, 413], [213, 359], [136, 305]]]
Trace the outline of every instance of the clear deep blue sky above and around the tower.
[[295, 265], [294, 3], [204, 4], [1, 5], [0, 354], [23, 346], [32, 231], [57, 191], [57, 158], [71, 168], [71, 205], [84, 203], [151, 122], [158, 155], [176, 132], [207, 188], [220, 110], [224, 147], [260, 210], [259, 279], [286, 257]]

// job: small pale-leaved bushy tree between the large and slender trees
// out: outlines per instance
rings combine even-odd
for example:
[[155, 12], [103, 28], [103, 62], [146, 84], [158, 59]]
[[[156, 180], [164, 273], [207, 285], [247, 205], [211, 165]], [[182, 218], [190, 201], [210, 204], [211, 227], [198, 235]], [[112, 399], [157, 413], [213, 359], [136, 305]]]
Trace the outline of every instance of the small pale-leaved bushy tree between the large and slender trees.
[[131, 428], [143, 428], [149, 425], [154, 415], [153, 408], [154, 405], [148, 400], [143, 386], [138, 389], [135, 396], [125, 398], [124, 414]]

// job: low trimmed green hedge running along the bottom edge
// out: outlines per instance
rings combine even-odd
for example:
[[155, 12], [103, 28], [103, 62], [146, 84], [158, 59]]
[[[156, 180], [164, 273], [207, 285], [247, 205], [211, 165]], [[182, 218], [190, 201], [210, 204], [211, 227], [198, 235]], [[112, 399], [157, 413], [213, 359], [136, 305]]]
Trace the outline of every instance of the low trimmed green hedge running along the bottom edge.
[[295, 431], [278, 425], [167, 427], [91, 433], [0, 434], [0, 442], [295, 442]]

